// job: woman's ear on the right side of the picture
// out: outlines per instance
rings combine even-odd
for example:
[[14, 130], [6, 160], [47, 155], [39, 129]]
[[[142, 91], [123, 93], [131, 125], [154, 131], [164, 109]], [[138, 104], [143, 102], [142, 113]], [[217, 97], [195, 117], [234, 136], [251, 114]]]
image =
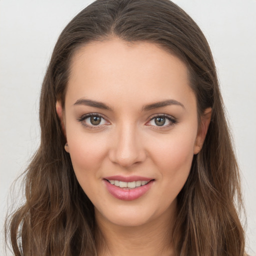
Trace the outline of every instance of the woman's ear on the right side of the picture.
[[211, 107], [204, 110], [201, 115], [201, 122], [198, 127], [195, 143], [194, 143], [194, 154], [198, 154], [202, 148], [211, 118]]

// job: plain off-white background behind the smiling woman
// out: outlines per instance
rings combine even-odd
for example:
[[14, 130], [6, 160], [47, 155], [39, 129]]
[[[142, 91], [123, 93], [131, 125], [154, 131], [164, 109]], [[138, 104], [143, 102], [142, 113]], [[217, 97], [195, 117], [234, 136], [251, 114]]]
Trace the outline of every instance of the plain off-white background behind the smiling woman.
[[[0, 0], [1, 227], [10, 185], [39, 143], [39, 91], [54, 43], [90, 2]], [[174, 2], [197, 22], [212, 49], [242, 173], [247, 251], [256, 255], [256, 0]]]

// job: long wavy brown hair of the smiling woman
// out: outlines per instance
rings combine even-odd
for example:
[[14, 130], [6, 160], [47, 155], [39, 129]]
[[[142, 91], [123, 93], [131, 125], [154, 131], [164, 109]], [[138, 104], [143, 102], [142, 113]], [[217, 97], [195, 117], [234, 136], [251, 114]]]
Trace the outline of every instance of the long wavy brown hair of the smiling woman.
[[[212, 108], [203, 147], [178, 194], [173, 242], [181, 256], [241, 256], [241, 193], [214, 61], [195, 22], [169, 0], [96, 0], [64, 28], [40, 95], [41, 142], [25, 172], [25, 203], [6, 221], [15, 255], [96, 255], [93, 205], [78, 184], [55, 111], [64, 106], [70, 60], [82, 45], [118, 37], [149, 41], [185, 62], [198, 116]], [[181, 235], [178, 235], [181, 234]], [[17, 240], [22, 238], [22, 246]]]

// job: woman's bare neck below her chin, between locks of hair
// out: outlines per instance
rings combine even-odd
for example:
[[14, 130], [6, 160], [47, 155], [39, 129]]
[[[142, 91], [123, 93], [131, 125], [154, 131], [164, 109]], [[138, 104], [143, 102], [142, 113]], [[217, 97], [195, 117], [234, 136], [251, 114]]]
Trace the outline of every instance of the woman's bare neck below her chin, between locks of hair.
[[98, 256], [171, 256], [174, 255], [171, 230], [174, 214], [158, 217], [139, 226], [120, 226], [95, 217], [97, 223], [96, 246]]

